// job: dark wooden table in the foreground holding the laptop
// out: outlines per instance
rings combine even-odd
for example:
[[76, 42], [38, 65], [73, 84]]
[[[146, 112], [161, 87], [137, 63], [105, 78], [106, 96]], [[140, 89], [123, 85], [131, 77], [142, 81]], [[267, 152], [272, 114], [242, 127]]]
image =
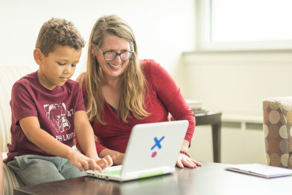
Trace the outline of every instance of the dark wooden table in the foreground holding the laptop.
[[14, 195], [285, 195], [292, 176], [262, 178], [224, 170], [227, 164], [201, 162], [196, 169], [126, 182], [84, 176], [20, 187]]

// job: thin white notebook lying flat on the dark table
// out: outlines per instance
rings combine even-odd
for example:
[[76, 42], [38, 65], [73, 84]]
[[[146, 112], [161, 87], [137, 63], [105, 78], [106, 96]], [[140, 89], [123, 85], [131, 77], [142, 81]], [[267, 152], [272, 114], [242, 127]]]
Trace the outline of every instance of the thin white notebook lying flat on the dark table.
[[265, 178], [279, 177], [279, 176], [292, 176], [292, 170], [281, 167], [273, 167], [263, 164], [237, 164], [229, 165], [224, 169], [236, 171], [244, 174], [261, 176]]

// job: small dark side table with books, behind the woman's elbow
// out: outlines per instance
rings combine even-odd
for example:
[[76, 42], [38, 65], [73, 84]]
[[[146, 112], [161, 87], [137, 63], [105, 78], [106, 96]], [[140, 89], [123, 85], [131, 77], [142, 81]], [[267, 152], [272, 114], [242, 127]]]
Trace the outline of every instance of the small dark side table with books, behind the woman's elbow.
[[221, 162], [221, 115], [221, 112], [195, 114], [196, 126], [212, 125], [214, 162]]

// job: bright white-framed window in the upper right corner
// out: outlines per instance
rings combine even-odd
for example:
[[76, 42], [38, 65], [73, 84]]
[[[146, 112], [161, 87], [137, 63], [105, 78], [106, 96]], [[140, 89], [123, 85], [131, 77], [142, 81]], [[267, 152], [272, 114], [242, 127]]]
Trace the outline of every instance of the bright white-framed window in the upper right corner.
[[292, 49], [292, 0], [198, 0], [201, 50]]

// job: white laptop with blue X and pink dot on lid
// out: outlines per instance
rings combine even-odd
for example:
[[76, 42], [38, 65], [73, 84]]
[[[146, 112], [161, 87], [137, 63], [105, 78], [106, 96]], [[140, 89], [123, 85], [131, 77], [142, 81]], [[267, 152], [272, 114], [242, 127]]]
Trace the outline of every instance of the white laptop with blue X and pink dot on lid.
[[129, 137], [123, 165], [108, 167], [102, 173], [92, 170], [86, 173], [117, 181], [172, 173], [187, 127], [187, 120], [135, 125]]

